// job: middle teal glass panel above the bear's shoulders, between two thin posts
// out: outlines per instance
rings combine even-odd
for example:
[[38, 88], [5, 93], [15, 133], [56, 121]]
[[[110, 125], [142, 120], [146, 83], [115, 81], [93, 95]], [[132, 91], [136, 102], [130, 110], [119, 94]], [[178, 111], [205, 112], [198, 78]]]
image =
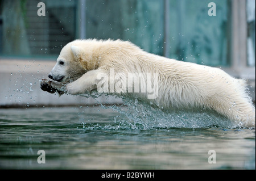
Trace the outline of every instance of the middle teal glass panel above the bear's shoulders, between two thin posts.
[[163, 0], [86, 1], [86, 38], [130, 40], [163, 55]]

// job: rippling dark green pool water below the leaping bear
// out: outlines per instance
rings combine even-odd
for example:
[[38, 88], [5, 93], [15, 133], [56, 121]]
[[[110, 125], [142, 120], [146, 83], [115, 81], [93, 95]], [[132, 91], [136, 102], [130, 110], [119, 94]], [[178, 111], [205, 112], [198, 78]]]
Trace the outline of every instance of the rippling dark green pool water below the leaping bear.
[[134, 115], [113, 106], [2, 109], [0, 169], [255, 169], [255, 130], [172, 127]]

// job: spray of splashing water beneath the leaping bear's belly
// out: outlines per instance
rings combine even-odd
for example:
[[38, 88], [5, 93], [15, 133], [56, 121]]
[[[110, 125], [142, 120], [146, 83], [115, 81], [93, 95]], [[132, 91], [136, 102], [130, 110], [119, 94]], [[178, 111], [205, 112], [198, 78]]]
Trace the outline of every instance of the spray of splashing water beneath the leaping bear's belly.
[[[81, 96], [94, 99], [101, 96], [97, 92], [82, 94]], [[112, 96], [107, 95], [110, 99]], [[158, 107], [142, 102], [139, 99], [131, 99], [127, 96], [118, 96], [123, 100], [121, 106], [101, 105], [102, 109], [110, 109], [118, 112], [113, 117], [113, 124], [88, 124], [82, 121], [85, 129], [169, 129], [169, 128], [237, 128], [239, 125], [232, 123], [225, 117], [209, 110], [173, 110], [164, 111]], [[97, 100], [97, 99], [96, 99]]]

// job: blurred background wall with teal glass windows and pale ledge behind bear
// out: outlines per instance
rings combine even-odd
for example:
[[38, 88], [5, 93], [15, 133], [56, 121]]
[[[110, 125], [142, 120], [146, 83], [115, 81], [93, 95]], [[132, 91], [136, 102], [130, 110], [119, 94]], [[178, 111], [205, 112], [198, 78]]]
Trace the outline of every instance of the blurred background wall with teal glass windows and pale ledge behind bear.
[[[46, 16], [39, 16], [43, 2]], [[208, 4], [216, 4], [209, 16]], [[253, 0], [0, 0], [0, 107], [121, 103], [40, 90], [74, 39], [122, 39], [147, 52], [247, 79], [255, 101]]]

